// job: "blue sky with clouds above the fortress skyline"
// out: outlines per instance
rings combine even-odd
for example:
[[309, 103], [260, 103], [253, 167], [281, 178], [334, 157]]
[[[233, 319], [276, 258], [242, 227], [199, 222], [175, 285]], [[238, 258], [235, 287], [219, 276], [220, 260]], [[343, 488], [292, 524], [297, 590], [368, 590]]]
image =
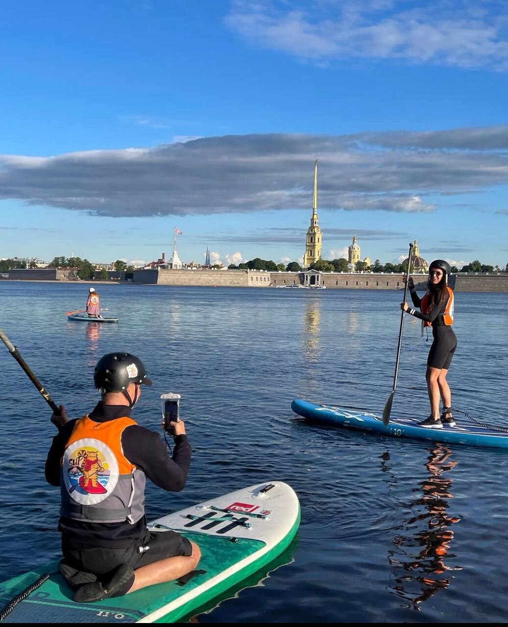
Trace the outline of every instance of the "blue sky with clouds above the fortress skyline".
[[505, 266], [504, 3], [6, 3], [0, 257]]

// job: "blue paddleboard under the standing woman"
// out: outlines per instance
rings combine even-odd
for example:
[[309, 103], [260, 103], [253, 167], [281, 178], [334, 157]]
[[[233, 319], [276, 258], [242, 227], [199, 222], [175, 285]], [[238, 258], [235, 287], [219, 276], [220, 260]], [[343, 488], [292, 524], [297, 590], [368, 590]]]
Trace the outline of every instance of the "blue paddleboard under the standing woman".
[[433, 442], [466, 444], [469, 446], [494, 446], [508, 448], [508, 433], [494, 431], [488, 427], [475, 424], [461, 424], [457, 421], [454, 427], [443, 426], [442, 429], [427, 429], [418, 426], [421, 418], [390, 418], [388, 426], [384, 426], [381, 416], [352, 411], [332, 405], [317, 405], [302, 399], [295, 399], [291, 409], [309, 420], [342, 426], [359, 431], [370, 431], [396, 438], [417, 438]]

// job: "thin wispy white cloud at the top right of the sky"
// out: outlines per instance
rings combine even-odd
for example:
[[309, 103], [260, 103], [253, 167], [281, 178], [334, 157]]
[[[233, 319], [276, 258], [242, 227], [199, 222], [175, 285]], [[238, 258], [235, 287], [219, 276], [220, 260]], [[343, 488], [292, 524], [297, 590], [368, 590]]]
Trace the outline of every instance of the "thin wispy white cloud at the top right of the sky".
[[226, 24], [256, 45], [319, 61], [348, 58], [508, 70], [501, 0], [236, 0]]

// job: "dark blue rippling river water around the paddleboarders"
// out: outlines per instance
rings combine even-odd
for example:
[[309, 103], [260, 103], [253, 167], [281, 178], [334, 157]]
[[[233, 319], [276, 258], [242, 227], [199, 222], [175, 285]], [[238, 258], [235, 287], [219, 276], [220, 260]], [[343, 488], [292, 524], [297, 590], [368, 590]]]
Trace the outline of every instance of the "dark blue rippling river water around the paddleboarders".
[[[149, 519], [265, 479], [300, 498], [280, 567], [194, 621], [507, 621], [508, 451], [325, 428], [290, 409], [301, 397], [383, 410], [401, 292], [98, 285], [119, 324], [68, 322], [87, 288], [0, 282], [0, 326], [71, 416], [95, 405], [93, 366], [112, 350], [154, 381], [140, 423], [157, 429], [159, 394], [182, 394], [191, 473], [181, 493], [149, 486]], [[454, 408], [505, 424], [508, 295], [457, 293], [455, 330]], [[428, 415], [429, 347], [407, 317], [393, 416]], [[3, 345], [0, 368], [3, 580], [54, 559], [60, 538], [43, 473], [51, 412]]]

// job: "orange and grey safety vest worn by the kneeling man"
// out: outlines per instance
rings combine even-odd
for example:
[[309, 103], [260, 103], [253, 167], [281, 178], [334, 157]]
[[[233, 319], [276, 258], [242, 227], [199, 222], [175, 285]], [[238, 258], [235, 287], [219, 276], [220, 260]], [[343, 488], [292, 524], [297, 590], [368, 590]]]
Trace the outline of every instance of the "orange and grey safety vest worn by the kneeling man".
[[61, 458], [62, 516], [130, 524], [144, 516], [146, 477], [122, 450], [122, 433], [133, 424], [128, 416], [77, 420]]

